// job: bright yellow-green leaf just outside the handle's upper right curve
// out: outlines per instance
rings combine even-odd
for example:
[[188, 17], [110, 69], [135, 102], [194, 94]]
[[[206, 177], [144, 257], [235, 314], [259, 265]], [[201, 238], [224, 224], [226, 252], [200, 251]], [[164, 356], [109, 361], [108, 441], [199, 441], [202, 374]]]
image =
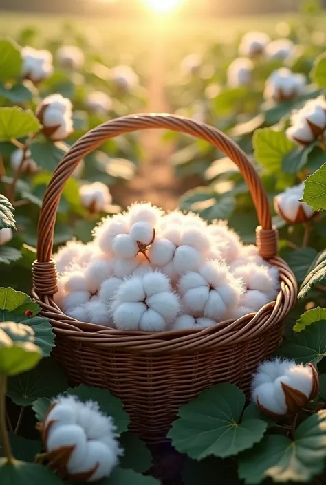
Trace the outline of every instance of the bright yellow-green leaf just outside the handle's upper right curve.
[[270, 173], [281, 171], [283, 158], [295, 147], [283, 131], [272, 128], [257, 129], [253, 144], [255, 159]]

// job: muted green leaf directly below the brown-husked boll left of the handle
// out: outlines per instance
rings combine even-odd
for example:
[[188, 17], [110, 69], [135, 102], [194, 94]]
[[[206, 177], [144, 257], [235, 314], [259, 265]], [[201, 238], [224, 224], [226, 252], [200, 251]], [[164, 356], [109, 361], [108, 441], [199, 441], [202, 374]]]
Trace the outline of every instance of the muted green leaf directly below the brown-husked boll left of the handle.
[[56, 169], [58, 162], [67, 153], [68, 149], [67, 145], [63, 142], [51, 142], [48, 140], [34, 140], [30, 144], [32, 160], [47, 172], [53, 172]]

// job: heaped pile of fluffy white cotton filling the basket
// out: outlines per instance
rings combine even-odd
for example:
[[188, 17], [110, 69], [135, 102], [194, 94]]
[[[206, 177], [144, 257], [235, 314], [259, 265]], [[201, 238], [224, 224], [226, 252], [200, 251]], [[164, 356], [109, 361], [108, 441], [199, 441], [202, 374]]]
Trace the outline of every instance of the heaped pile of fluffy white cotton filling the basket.
[[63, 312], [118, 330], [209, 327], [257, 312], [279, 291], [278, 270], [226, 222], [149, 203], [102, 219], [93, 241], [69, 241], [54, 259]]

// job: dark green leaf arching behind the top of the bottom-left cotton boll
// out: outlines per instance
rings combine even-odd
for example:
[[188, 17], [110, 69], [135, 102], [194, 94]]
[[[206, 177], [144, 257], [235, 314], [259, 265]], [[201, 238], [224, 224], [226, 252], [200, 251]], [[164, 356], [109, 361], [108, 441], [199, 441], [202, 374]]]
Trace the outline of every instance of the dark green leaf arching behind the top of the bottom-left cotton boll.
[[108, 416], [112, 416], [118, 433], [127, 431], [129, 425], [129, 416], [126, 411], [124, 411], [120, 399], [113, 396], [108, 389], [80, 385], [78, 387], [70, 387], [67, 389], [67, 394], [77, 396], [83, 402], [86, 402], [87, 400], [98, 402], [101, 411], [106, 413]]

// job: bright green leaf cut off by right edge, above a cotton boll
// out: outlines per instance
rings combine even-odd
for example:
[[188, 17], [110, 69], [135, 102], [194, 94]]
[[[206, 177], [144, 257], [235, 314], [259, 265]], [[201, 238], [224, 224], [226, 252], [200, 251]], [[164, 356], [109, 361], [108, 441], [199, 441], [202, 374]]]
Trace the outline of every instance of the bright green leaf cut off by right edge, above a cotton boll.
[[314, 211], [326, 209], [326, 162], [304, 182], [303, 200]]

